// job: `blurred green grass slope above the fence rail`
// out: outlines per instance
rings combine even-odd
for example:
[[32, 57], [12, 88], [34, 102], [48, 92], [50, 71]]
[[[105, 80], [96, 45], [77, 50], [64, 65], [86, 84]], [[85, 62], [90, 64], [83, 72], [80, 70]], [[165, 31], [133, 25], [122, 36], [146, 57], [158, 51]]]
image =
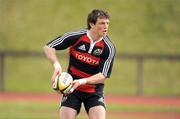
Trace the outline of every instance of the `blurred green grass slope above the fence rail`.
[[87, 14], [100, 8], [111, 14], [109, 35], [118, 52], [180, 53], [179, 5], [179, 0], [0, 0], [0, 50], [40, 51], [55, 36], [86, 27]]

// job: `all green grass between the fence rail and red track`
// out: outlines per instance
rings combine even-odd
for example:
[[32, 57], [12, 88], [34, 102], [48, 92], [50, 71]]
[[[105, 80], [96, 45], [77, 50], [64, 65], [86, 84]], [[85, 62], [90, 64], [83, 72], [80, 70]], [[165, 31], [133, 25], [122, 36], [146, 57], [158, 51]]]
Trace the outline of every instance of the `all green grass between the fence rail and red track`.
[[[64, 57], [64, 56], [63, 56]], [[61, 60], [64, 71], [67, 62]], [[111, 78], [106, 80], [105, 93], [136, 95], [137, 62], [116, 60]], [[160, 96], [180, 95], [180, 63], [147, 60], [143, 65], [143, 94]], [[5, 88], [8, 92], [51, 92], [53, 68], [45, 58], [7, 58]]]

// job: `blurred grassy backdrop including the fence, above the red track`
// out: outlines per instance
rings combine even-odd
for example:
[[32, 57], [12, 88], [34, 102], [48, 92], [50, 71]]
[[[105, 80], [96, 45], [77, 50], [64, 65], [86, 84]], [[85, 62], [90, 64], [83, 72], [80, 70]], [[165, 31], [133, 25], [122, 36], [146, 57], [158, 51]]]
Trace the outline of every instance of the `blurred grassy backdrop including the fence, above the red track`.
[[[53, 67], [43, 46], [86, 28], [87, 14], [98, 8], [111, 16], [117, 50], [105, 94], [178, 97], [179, 6], [180, 0], [0, 0], [0, 91], [51, 93]], [[64, 71], [66, 53], [58, 53]]]

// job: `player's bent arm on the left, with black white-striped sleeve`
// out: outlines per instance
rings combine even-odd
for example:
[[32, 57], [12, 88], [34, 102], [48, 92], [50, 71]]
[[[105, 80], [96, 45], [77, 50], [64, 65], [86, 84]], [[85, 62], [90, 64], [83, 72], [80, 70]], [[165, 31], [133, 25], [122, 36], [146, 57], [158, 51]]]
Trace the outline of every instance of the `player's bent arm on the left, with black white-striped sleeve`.
[[54, 66], [54, 73], [51, 78], [52, 84], [55, 80], [55, 77], [62, 73], [61, 65], [58, 62], [58, 58], [56, 56], [56, 50], [64, 50], [72, 46], [82, 34], [86, 33], [86, 31], [87, 30], [80, 30], [78, 32], [68, 32], [63, 36], [55, 38], [54, 40], [50, 41], [47, 45], [44, 46], [44, 53]]

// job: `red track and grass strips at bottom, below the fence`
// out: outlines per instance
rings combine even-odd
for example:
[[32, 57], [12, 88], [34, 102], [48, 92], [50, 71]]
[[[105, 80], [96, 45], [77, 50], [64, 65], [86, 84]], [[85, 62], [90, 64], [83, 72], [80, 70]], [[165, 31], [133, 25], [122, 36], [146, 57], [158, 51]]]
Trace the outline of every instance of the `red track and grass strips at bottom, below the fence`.
[[[2, 97], [3, 96], [3, 97]], [[52, 96], [52, 97], [49, 97]], [[58, 118], [59, 96], [45, 94], [0, 94], [0, 119]], [[179, 98], [107, 96], [107, 119], [178, 119]], [[78, 119], [87, 119], [84, 108]]]

